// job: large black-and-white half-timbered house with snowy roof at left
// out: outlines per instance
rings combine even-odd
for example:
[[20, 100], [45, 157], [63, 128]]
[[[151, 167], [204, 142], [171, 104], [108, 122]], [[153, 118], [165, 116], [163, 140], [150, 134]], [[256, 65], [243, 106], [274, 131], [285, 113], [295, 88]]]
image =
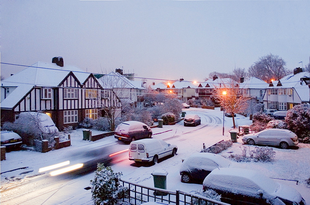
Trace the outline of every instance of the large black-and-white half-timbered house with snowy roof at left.
[[64, 65], [61, 57], [37, 62], [1, 81], [1, 124], [14, 122], [21, 112], [42, 111], [60, 130], [75, 127], [85, 117], [104, 115], [100, 110], [108, 97], [101, 93], [104, 89], [93, 74]]

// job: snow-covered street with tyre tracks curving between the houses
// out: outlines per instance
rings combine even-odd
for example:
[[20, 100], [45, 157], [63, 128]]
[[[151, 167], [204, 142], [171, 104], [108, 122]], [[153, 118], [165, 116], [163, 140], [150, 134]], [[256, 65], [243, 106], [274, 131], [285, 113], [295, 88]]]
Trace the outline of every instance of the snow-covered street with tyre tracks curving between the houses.
[[[183, 109], [187, 114], [197, 114], [201, 117], [201, 125], [197, 127], [184, 127], [183, 121], [176, 125], [152, 128], [155, 139], [162, 139], [170, 144], [178, 146], [176, 156], [159, 160], [158, 164], [137, 165], [128, 160], [128, 152], [116, 155], [112, 169], [114, 172], [122, 172], [122, 179], [135, 182], [144, 186], [153, 187], [151, 173], [157, 169], [168, 172], [167, 189], [193, 191], [202, 189], [200, 184], [185, 184], [180, 180], [179, 169], [182, 159], [193, 152], [199, 152], [202, 144], [206, 147], [221, 141], [230, 139], [229, 130], [232, 129], [232, 118], [225, 117], [225, 135], [222, 135], [223, 112], [219, 108], [215, 110], [189, 108]], [[249, 117], [237, 114], [236, 125], [250, 125]], [[102, 133], [93, 130], [93, 135]], [[71, 147], [62, 148], [47, 153], [32, 151], [15, 151], [6, 154], [6, 160], [1, 161], [1, 204], [93, 204], [91, 190], [84, 188], [90, 186], [93, 172], [83, 175], [64, 174], [50, 176], [49, 171], [38, 173], [42, 167], [50, 166], [64, 161], [83, 163], [96, 155], [87, 155], [94, 150], [114, 153], [128, 149], [129, 145], [109, 136], [95, 142], [83, 141], [82, 131], [74, 130], [71, 133]], [[229, 153], [240, 153], [241, 138], [228, 150], [219, 153], [228, 156]], [[310, 173], [310, 150], [305, 144], [299, 144], [298, 149], [281, 150], [273, 148], [277, 153], [272, 163], [263, 162], [235, 162], [233, 167], [255, 169], [265, 175], [286, 183], [297, 189], [303, 198], [310, 204], [310, 188], [306, 187], [304, 180]], [[228, 153], [229, 152], [229, 153]], [[107, 153], [105, 153], [107, 154]], [[25, 168], [26, 167], [26, 168]], [[25, 169], [20, 169], [25, 168]], [[14, 170], [15, 171], [11, 171]], [[290, 181], [288, 181], [290, 180]], [[284, 181], [284, 182], [283, 182]], [[296, 185], [299, 182], [299, 185]]]

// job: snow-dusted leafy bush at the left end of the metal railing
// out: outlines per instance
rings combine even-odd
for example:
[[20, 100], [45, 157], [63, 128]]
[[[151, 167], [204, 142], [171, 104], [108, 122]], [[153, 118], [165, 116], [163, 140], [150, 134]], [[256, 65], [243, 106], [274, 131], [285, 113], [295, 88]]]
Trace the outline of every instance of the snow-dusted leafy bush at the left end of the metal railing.
[[121, 176], [122, 173], [114, 173], [111, 167], [97, 165], [95, 178], [91, 180], [91, 194], [95, 204], [120, 204], [120, 199], [127, 191], [119, 182]]

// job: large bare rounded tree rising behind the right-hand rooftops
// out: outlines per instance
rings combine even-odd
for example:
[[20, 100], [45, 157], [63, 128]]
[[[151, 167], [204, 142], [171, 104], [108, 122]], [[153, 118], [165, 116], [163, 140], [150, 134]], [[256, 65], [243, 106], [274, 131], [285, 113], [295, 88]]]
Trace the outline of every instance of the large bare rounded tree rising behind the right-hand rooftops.
[[269, 54], [260, 57], [254, 65], [248, 69], [249, 76], [259, 77], [260, 79], [270, 81], [279, 80], [284, 76], [290, 74], [290, 70], [286, 67], [286, 62], [277, 55]]

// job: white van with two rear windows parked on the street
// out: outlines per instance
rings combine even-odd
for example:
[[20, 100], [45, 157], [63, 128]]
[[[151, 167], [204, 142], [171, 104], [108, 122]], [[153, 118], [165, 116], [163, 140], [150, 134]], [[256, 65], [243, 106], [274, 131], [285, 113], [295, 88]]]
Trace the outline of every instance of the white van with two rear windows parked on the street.
[[174, 156], [177, 151], [176, 145], [168, 144], [161, 139], [140, 139], [130, 143], [129, 160], [156, 164], [158, 159], [169, 155]]

